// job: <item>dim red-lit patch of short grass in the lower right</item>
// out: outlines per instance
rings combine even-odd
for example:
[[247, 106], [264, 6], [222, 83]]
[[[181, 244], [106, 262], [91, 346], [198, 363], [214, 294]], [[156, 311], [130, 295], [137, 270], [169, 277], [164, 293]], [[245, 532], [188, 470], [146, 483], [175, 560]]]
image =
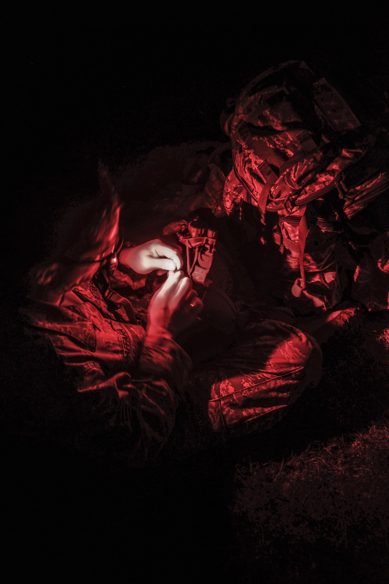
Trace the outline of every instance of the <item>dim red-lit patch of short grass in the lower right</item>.
[[[282, 539], [362, 548], [389, 530], [389, 429], [386, 420], [326, 446], [310, 445], [286, 463], [237, 468], [235, 513], [255, 533], [257, 549]], [[357, 527], [357, 529], [355, 529]], [[362, 536], [364, 534], [364, 537]]]

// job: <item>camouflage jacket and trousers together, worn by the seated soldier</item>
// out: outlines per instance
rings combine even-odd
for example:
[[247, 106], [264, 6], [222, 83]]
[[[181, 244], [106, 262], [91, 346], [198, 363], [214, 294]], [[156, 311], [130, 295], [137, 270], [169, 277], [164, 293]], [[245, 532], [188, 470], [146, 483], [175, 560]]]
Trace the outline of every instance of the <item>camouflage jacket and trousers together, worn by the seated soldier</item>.
[[[180, 402], [188, 403], [187, 392], [192, 405], [181, 426], [189, 437], [173, 442], [173, 456], [272, 426], [321, 376], [321, 351], [294, 328], [288, 309], [249, 307], [230, 350], [197, 364], [188, 384], [191, 359], [169, 333], [150, 338], [142, 326], [130, 324], [120, 305], [108, 308], [92, 283], [74, 292], [80, 304], [33, 301], [23, 312], [30, 329], [53, 345], [75, 378], [71, 399], [55, 395], [51, 385], [50, 395], [40, 397], [47, 416], [57, 425], [66, 419], [61, 427], [68, 442], [97, 458], [105, 453], [130, 465], [155, 460]], [[193, 414], [193, 401], [203, 413]]]

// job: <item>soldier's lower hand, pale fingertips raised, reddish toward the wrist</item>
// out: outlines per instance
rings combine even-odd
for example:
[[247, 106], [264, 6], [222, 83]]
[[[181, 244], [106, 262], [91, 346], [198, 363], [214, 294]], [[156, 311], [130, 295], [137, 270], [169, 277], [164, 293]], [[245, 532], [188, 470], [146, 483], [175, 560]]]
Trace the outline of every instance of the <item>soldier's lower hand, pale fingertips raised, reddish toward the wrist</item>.
[[148, 329], [163, 328], [172, 336], [185, 331], [202, 310], [203, 303], [192, 290], [192, 280], [183, 272], [169, 272], [148, 307]]

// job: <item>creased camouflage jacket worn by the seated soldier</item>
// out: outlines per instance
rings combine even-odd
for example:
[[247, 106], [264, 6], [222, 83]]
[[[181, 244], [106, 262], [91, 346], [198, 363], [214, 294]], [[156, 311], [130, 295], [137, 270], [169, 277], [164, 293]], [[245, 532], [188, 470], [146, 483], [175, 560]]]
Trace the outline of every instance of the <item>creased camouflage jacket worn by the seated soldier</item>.
[[147, 335], [120, 304], [113, 310], [92, 282], [73, 291], [79, 304], [33, 301], [21, 311], [32, 343], [50, 341], [77, 389], [64, 399], [48, 380], [37, 403], [47, 409], [45, 423], [51, 418], [65, 428], [77, 449], [141, 465], [157, 456], [173, 428], [191, 360], [167, 331]]

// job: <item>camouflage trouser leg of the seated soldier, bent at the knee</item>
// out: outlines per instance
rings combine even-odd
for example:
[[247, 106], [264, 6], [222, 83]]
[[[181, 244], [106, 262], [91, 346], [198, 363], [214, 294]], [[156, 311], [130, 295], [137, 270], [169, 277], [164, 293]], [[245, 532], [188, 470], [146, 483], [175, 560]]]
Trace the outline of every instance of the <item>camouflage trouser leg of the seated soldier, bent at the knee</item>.
[[197, 364], [187, 400], [166, 444], [170, 458], [189, 456], [229, 437], [267, 430], [321, 378], [317, 342], [293, 326], [287, 309], [249, 310], [248, 324], [221, 357]]

